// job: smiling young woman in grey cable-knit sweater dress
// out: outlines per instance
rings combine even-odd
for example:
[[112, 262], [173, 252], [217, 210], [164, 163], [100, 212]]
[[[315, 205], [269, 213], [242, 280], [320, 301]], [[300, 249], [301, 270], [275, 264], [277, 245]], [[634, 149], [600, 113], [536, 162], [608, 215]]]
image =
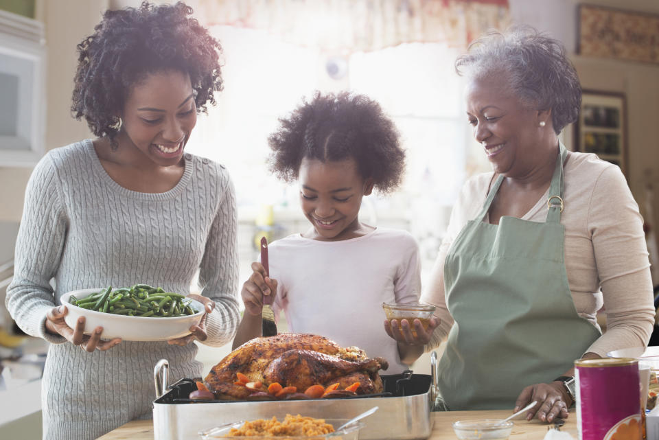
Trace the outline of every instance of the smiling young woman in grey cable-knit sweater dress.
[[[198, 376], [192, 340], [223, 345], [235, 334], [233, 186], [221, 165], [184, 154], [198, 112], [222, 88], [220, 45], [191, 13], [183, 3], [105, 12], [78, 45], [72, 106], [97, 138], [51, 150], [30, 178], [7, 306], [51, 343], [45, 439], [95, 439], [150, 417], [157, 360], [169, 360], [174, 378]], [[100, 327], [85, 336], [84, 319], [64, 321], [59, 298], [70, 290], [188, 292], [197, 270], [203, 296], [190, 296], [207, 314], [189, 336], [120, 343], [100, 340]]]

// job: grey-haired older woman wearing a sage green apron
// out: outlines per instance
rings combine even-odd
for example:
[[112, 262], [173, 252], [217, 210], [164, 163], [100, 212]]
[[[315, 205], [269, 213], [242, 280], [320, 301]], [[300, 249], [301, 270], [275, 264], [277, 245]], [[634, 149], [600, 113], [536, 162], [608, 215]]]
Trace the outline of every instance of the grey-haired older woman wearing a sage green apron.
[[[567, 417], [575, 359], [649, 339], [638, 205], [617, 166], [559, 141], [581, 102], [559, 42], [527, 28], [487, 34], [456, 69], [493, 172], [470, 178], [456, 202], [422, 296], [439, 327], [416, 341], [432, 349], [448, 335], [439, 384], [451, 410], [537, 401], [528, 419]], [[603, 305], [605, 334], [595, 319]]]

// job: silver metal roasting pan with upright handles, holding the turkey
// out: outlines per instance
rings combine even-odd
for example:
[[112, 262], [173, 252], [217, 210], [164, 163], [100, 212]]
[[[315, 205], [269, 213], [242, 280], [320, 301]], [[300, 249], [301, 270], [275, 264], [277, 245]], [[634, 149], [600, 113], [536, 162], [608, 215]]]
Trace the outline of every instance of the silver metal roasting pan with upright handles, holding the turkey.
[[360, 440], [427, 439], [432, 432], [430, 409], [437, 398], [437, 354], [430, 355], [430, 375], [381, 375], [384, 393], [342, 399], [279, 400], [267, 402], [194, 402], [187, 397], [196, 389], [194, 380], [167, 385], [168, 364], [154, 368], [157, 398], [153, 402], [154, 440], [198, 440], [198, 432], [238, 420], [283, 419], [286, 414], [324, 419], [349, 419], [365, 410], [380, 409], [365, 419]]

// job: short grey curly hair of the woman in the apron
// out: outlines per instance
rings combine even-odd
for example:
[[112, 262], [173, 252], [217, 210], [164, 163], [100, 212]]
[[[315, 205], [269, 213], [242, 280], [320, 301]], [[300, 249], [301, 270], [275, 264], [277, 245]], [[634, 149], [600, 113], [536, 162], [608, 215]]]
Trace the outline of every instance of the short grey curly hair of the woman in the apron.
[[455, 69], [460, 76], [474, 79], [502, 74], [522, 105], [551, 109], [556, 134], [579, 115], [581, 84], [565, 47], [533, 27], [487, 32], [457, 58]]

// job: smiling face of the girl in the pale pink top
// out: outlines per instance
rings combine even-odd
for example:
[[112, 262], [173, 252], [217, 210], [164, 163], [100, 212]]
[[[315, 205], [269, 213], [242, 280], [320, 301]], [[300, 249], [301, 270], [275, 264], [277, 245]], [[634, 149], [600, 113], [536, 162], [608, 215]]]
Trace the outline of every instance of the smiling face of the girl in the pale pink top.
[[358, 172], [354, 159], [321, 162], [302, 159], [298, 173], [300, 204], [314, 227], [314, 240], [334, 241], [354, 238], [362, 197], [373, 191], [371, 179]]

